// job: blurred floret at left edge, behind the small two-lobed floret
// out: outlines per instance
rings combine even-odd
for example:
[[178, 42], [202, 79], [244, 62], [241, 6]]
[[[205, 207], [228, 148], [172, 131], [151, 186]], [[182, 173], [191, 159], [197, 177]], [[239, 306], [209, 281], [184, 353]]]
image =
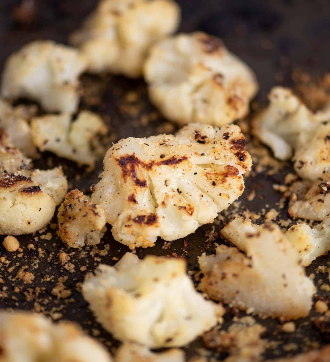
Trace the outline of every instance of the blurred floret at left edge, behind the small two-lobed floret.
[[6, 131], [13, 145], [29, 157], [38, 156], [29, 124], [36, 112], [36, 106], [12, 107], [0, 98], [0, 128]]

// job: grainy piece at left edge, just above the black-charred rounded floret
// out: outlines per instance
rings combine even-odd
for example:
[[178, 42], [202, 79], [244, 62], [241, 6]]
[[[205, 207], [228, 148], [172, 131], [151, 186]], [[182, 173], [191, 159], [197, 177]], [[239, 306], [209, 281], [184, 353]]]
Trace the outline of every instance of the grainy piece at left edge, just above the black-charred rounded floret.
[[15, 148], [4, 129], [0, 129], [0, 177], [31, 168], [31, 159]]

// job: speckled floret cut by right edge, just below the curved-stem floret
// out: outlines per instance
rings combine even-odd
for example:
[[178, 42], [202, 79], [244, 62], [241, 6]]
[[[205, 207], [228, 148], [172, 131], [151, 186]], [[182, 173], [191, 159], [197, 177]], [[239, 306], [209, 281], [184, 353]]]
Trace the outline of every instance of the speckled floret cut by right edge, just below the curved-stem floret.
[[305, 180], [316, 181], [330, 172], [330, 122], [311, 132], [310, 137], [297, 148], [293, 161], [296, 173]]

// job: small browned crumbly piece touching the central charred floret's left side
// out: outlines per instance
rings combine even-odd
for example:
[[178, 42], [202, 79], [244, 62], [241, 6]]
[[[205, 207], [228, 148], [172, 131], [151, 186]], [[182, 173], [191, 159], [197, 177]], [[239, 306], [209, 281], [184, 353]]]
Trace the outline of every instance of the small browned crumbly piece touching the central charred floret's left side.
[[71, 248], [100, 243], [106, 231], [105, 210], [75, 189], [65, 195], [58, 210], [58, 236]]

